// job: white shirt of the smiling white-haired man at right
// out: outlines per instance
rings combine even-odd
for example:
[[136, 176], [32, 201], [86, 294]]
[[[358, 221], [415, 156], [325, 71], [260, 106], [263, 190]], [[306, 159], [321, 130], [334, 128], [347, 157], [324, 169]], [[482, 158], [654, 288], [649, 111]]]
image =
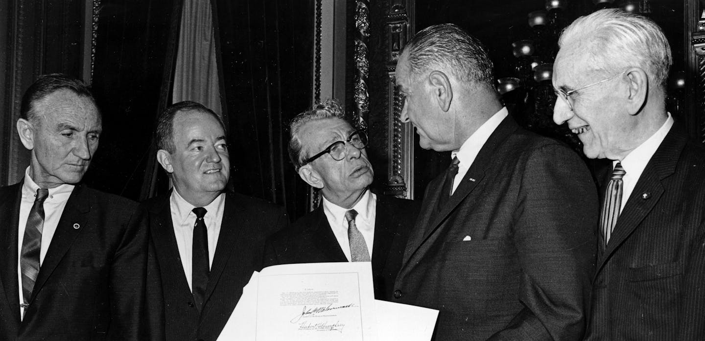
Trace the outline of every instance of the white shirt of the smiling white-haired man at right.
[[[646, 163], [649, 163], [651, 156], [654, 156], [656, 149], [661, 145], [663, 139], [666, 138], [671, 127], [673, 127], [673, 117], [668, 113], [668, 118], [666, 122], [661, 125], [661, 128], [658, 128], [658, 130], [654, 132], [654, 135], [651, 135], [644, 143], [639, 144], [639, 147], [630, 151], [630, 153], [625, 156], [624, 160], [621, 161], [622, 167], [626, 173], [622, 178], [624, 187], [620, 212], [624, 209], [625, 204], [627, 204], [627, 200], [629, 196], [632, 195], [634, 187], [637, 186], [639, 177], [642, 176], [644, 168], [646, 168]], [[612, 162], [612, 169], [614, 169], [617, 162], [618, 160]]]

